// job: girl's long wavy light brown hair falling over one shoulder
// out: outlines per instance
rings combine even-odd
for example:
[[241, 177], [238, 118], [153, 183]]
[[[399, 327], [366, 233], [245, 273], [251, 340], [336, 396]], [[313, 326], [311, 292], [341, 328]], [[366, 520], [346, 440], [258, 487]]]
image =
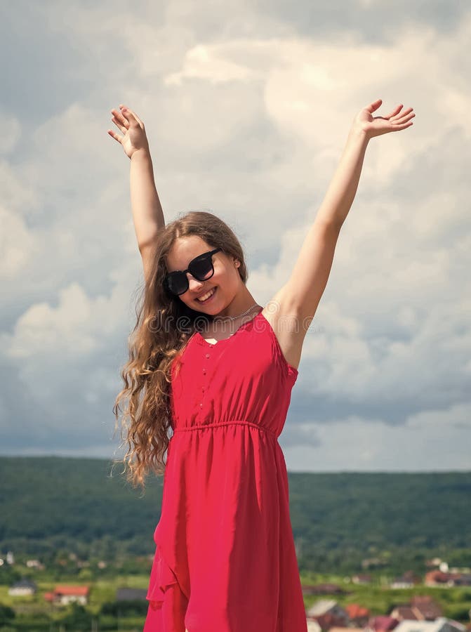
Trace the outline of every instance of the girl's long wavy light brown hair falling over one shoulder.
[[[188, 308], [171, 294], [164, 279], [166, 256], [175, 240], [197, 235], [211, 247], [240, 261], [239, 275], [246, 284], [244, 251], [232, 229], [207, 211], [190, 211], [168, 223], [157, 235], [154, 260], [136, 305], [137, 322], [128, 338], [129, 359], [121, 370], [124, 388], [114, 402], [115, 432], [121, 413], [121, 444], [128, 482], [142, 489], [151, 471], [163, 475], [171, 428], [171, 365], [195, 331], [213, 320], [211, 315]], [[122, 407], [124, 405], [124, 408]]]

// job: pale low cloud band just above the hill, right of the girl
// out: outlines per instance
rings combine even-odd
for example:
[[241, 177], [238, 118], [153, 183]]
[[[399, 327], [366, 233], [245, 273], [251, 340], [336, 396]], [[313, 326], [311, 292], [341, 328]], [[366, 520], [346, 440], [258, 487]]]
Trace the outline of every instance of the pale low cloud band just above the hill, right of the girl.
[[280, 444], [290, 469], [300, 472], [470, 470], [470, 414], [469, 404], [425, 411], [406, 427], [357, 416], [329, 419], [303, 424], [298, 435], [305, 439], [298, 445], [285, 442], [286, 428]]

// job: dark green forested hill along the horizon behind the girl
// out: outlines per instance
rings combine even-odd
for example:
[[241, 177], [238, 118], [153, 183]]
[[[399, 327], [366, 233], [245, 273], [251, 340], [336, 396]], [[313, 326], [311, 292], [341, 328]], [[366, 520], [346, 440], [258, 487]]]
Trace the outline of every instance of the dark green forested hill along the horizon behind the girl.
[[[0, 457], [0, 551], [147, 555], [162, 479], [145, 494], [101, 459]], [[471, 472], [289, 473], [300, 568], [348, 572], [364, 558], [394, 570], [446, 553], [471, 564]]]

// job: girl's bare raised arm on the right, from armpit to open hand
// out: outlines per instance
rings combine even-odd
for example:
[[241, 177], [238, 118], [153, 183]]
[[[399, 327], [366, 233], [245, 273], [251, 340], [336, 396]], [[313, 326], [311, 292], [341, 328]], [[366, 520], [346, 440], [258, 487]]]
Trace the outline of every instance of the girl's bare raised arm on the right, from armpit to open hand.
[[340, 228], [357, 192], [369, 140], [406, 129], [415, 116], [411, 107], [401, 112], [403, 106], [398, 105], [388, 116], [373, 118], [372, 113], [381, 103], [381, 99], [374, 101], [354, 118], [340, 163], [307, 232], [291, 277], [273, 298], [272, 327], [286, 359], [295, 367], [300, 360], [303, 338], [329, 279]]

